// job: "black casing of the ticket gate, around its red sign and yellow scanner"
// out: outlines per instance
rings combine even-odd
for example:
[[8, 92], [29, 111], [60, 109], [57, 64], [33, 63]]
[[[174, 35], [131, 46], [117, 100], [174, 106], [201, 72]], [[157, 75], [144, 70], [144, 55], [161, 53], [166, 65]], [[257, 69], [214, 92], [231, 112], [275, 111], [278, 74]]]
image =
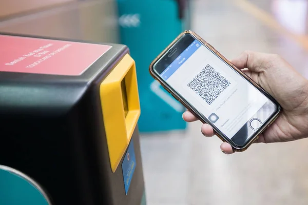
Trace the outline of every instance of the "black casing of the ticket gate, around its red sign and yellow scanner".
[[[137, 126], [130, 139], [136, 169], [127, 195], [121, 168], [125, 153], [115, 172], [110, 168], [101, 105], [107, 99], [100, 97], [100, 84], [129, 54], [124, 45], [111, 46], [81, 75], [0, 71], [0, 164], [33, 178], [54, 205], [142, 203]], [[5, 50], [0, 46], [0, 54]]]

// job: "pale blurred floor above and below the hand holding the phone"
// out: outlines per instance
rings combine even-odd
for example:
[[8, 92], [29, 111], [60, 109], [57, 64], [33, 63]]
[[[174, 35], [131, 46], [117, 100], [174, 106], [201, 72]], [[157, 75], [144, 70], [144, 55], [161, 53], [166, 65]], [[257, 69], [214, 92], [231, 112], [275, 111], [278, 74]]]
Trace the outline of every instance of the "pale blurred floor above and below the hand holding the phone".
[[[195, 0], [192, 30], [229, 59], [247, 49], [278, 53], [308, 77], [307, 5]], [[200, 127], [141, 136], [149, 205], [308, 204], [308, 139], [224, 155], [220, 139], [203, 137]]]

